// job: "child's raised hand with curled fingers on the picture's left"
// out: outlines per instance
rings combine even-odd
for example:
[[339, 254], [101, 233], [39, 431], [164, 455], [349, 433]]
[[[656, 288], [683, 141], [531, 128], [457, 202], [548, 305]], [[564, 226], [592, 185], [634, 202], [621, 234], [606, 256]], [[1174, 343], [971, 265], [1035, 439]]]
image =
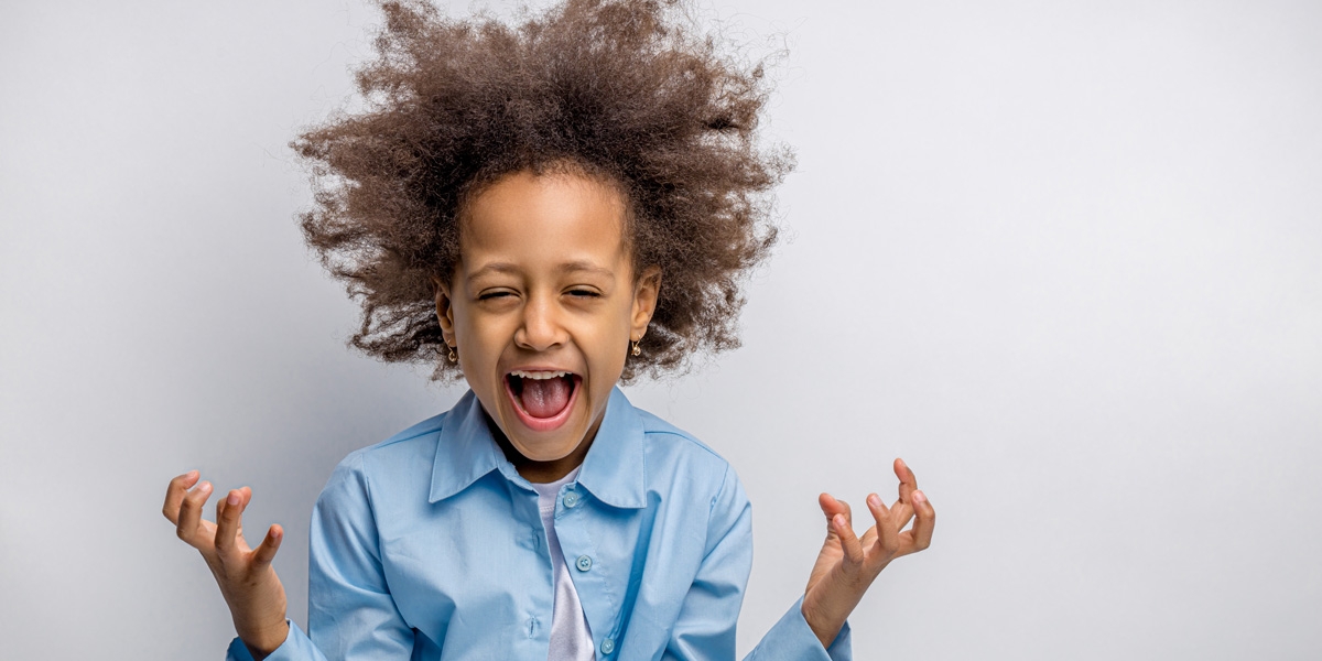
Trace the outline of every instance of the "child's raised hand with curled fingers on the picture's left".
[[213, 524], [202, 518], [212, 484], [202, 483], [188, 490], [198, 477], [201, 473], [189, 471], [171, 480], [161, 512], [178, 527], [178, 538], [201, 551], [230, 607], [234, 629], [254, 658], [260, 660], [284, 644], [290, 633], [284, 586], [271, 567], [284, 530], [272, 524], [266, 539], [250, 549], [243, 539], [242, 516], [253, 489], [234, 489], [218, 500]]

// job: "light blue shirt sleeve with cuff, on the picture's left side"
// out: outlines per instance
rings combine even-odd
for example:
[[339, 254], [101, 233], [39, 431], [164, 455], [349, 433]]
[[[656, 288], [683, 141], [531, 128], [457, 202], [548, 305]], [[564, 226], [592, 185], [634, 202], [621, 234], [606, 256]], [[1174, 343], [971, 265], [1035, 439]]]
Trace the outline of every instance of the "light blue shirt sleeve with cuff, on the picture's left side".
[[[407, 660], [414, 631], [386, 584], [362, 452], [330, 473], [312, 509], [308, 541], [308, 633], [290, 635], [267, 661]], [[226, 661], [253, 661], [234, 639]]]

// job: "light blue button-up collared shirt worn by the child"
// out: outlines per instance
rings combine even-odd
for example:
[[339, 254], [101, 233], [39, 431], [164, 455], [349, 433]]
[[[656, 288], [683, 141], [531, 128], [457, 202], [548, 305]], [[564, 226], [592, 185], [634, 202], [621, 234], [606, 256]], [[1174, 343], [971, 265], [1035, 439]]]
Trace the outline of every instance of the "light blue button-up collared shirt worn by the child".
[[[734, 660], [752, 568], [752, 512], [711, 448], [616, 387], [555, 533], [599, 660]], [[798, 599], [746, 661], [824, 649]], [[308, 635], [271, 661], [527, 660], [550, 649], [554, 579], [537, 492], [472, 391], [449, 411], [350, 452], [312, 512]], [[250, 661], [239, 639], [229, 660]]]

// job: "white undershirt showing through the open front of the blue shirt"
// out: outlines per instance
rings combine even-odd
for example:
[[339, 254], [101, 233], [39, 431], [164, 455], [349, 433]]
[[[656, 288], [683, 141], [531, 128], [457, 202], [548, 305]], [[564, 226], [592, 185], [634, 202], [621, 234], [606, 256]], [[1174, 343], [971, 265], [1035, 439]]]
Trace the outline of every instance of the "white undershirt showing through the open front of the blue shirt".
[[[582, 468], [582, 467], [579, 467]], [[554, 483], [533, 484], [537, 489], [537, 506], [542, 512], [542, 527], [546, 529], [546, 545], [551, 547], [551, 568], [555, 574], [555, 605], [551, 609], [551, 652], [547, 661], [590, 661], [595, 658], [592, 633], [583, 615], [583, 604], [578, 600], [578, 590], [564, 564], [561, 539], [555, 535], [555, 498], [561, 486], [578, 477], [578, 468]]]

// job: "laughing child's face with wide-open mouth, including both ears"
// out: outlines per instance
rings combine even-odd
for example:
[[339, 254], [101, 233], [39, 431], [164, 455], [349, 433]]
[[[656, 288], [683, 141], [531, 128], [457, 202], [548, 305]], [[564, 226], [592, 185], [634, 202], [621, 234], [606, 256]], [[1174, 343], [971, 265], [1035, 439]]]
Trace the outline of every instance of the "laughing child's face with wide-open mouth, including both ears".
[[660, 271], [635, 283], [623, 233], [612, 188], [508, 175], [469, 202], [460, 263], [449, 283], [436, 280], [446, 342], [533, 481], [582, 463], [656, 308]]

